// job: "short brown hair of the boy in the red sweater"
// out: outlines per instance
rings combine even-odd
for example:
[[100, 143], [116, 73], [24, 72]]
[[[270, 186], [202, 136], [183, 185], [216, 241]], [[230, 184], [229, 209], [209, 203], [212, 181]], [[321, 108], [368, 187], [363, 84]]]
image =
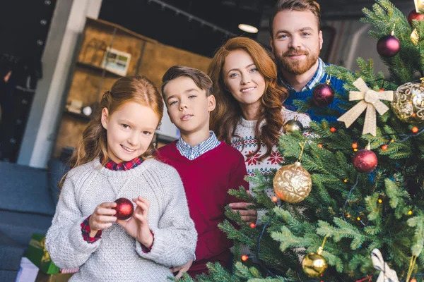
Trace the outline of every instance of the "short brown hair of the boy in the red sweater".
[[[209, 76], [203, 71], [198, 70], [197, 68], [190, 68], [189, 66], [172, 66], [170, 67], [162, 78], [162, 96], [165, 99], [165, 86], [171, 80], [175, 80], [179, 77], [187, 76], [191, 78], [197, 87], [201, 90], [206, 90], [206, 97], [212, 94], [212, 80]], [[165, 103], [166, 104], [166, 103]]]

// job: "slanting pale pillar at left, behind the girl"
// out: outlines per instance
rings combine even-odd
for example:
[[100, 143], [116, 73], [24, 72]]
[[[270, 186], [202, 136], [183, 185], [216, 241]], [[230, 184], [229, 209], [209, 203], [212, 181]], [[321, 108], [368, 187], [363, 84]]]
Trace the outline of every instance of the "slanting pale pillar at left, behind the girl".
[[[63, 7], [66, 6], [66, 2], [68, 7]], [[69, 6], [69, 2], [71, 1], [57, 1], [56, 9], [69, 8], [69, 17], [66, 18], [65, 30], [61, 31], [54, 30], [54, 25], [55, 22], [65, 19], [55, 15], [52, 21], [52, 27], [42, 58], [45, 76], [37, 85], [35, 93], [35, 97], [44, 98], [45, 106], [43, 107], [42, 101], [37, 103], [37, 105], [33, 105], [27, 130], [25, 130], [18, 164], [40, 168], [47, 166], [47, 161], [52, 154], [56, 140], [64, 100], [67, 96], [66, 85], [69, 83], [73, 60], [76, 56], [75, 52], [78, 49], [78, 40], [83, 32], [86, 17], [98, 18], [102, 4], [102, 0], [73, 0], [71, 6]], [[60, 11], [55, 11], [55, 13], [60, 13]], [[55, 37], [60, 37], [61, 41], [54, 42]], [[49, 41], [53, 41], [50, 43], [55, 44], [55, 46], [48, 48]], [[54, 47], [57, 49], [56, 54], [52, 53]], [[54, 58], [53, 61], [52, 57]], [[39, 108], [37, 109], [36, 106]]]

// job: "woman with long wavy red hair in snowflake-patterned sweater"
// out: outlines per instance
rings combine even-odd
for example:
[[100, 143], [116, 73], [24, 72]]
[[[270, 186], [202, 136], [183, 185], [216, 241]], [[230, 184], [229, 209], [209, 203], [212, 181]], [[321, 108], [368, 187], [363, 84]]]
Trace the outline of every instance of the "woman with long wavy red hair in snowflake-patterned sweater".
[[[284, 121], [298, 116], [306, 126], [310, 118], [282, 106], [287, 91], [277, 85], [276, 65], [266, 50], [247, 37], [232, 38], [216, 51], [208, 74], [216, 97], [212, 130], [242, 152], [249, 176], [254, 176], [255, 169], [266, 174], [280, 168], [283, 157], [278, 154], [277, 144]], [[273, 197], [272, 188], [266, 192]], [[244, 221], [256, 222], [257, 211], [246, 209], [247, 205], [232, 203], [230, 207], [240, 212]]]

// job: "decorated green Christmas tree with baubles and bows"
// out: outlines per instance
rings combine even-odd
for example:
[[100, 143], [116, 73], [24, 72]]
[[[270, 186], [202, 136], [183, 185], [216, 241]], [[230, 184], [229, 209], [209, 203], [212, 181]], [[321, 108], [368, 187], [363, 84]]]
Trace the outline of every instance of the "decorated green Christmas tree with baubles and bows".
[[[254, 198], [231, 192], [266, 209], [266, 223], [249, 226], [228, 209], [241, 226], [220, 225], [235, 240], [234, 269], [209, 264], [198, 281], [424, 281], [424, 15], [408, 21], [387, 0], [363, 12], [389, 78], [371, 60], [358, 59], [354, 73], [326, 69], [346, 81], [341, 111], [296, 103], [340, 118], [282, 135], [282, 168], [250, 179]], [[281, 200], [266, 196], [269, 187]], [[252, 254], [241, 256], [240, 244]]]

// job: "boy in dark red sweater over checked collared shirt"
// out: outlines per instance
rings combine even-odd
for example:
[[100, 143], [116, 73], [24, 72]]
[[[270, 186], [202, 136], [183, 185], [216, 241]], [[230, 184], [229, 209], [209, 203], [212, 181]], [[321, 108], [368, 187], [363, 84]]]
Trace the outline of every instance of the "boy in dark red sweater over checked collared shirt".
[[167, 113], [181, 137], [161, 147], [158, 158], [174, 166], [181, 176], [190, 216], [199, 233], [194, 259], [171, 271], [179, 271], [176, 278], [187, 270], [194, 277], [208, 271], [206, 262], [230, 264], [232, 242], [218, 223], [225, 219], [225, 205], [240, 202], [228, 190], [240, 185], [249, 190], [244, 180], [247, 171], [242, 154], [218, 141], [209, 130], [209, 116], [216, 106], [211, 78], [196, 68], [172, 66], [162, 82]]

